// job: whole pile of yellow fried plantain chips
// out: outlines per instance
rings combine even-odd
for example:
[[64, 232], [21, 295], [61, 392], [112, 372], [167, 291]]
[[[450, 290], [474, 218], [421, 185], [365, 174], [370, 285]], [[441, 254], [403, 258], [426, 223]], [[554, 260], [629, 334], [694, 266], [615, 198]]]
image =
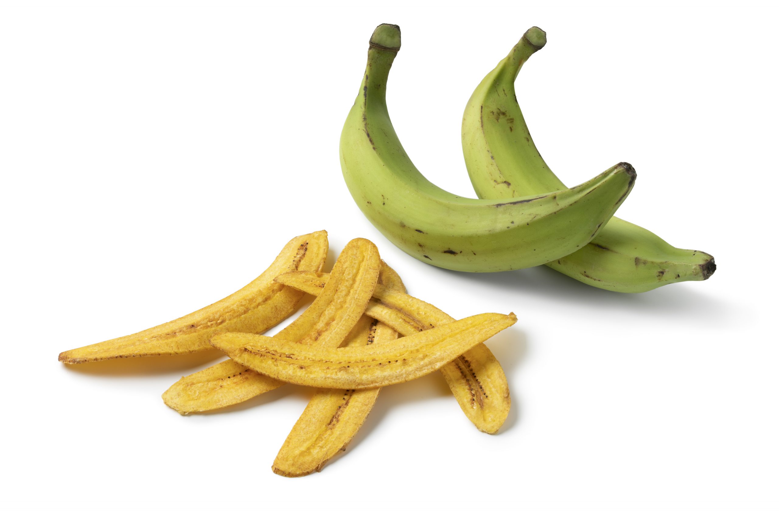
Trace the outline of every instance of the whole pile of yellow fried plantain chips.
[[[231, 296], [133, 335], [62, 352], [59, 360], [220, 349], [230, 358], [182, 377], [162, 395], [182, 415], [244, 402], [286, 382], [319, 388], [273, 462], [273, 472], [290, 477], [319, 471], [344, 450], [382, 386], [435, 370], [471, 422], [497, 432], [509, 412], [509, 387], [482, 342], [516, 316], [455, 321], [409, 296], [369, 240], [351, 240], [329, 274], [321, 272], [327, 248], [326, 231], [295, 237], [262, 275]], [[259, 335], [291, 315], [304, 293], [315, 296], [311, 306], [273, 337]]]

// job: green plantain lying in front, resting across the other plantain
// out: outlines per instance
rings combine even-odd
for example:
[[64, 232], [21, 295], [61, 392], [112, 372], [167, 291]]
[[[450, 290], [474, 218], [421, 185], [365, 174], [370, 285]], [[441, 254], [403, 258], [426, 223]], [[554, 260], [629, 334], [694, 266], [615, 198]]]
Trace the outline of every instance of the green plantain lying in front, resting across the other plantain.
[[620, 163], [576, 188], [482, 201], [435, 186], [411, 163], [386, 107], [386, 83], [400, 28], [374, 31], [357, 100], [340, 138], [340, 161], [354, 201], [393, 244], [432, 265], [499, 272], [541, 265], [587, 244], [633, 188]]

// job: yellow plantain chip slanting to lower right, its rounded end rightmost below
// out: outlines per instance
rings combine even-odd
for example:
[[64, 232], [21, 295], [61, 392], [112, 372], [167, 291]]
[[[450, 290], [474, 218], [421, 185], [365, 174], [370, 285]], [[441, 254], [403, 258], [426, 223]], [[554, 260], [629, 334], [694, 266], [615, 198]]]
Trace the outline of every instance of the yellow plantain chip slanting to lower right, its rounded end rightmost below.
[[[324, 272], [287, 272], [277, 277], [277, 281], [316, 295], [325, 286], [328, 276]], [[413, 335], [454, 321], [432, 304], [381, 282], [376, 286], [365, 314], [390, 325], [400, 335]], [[475, 345], [442, 366], [441, 373], [465, 416], [478, 430], [497, 433], [509, 415], [511, 397], [506, 373], [488, 347]]]

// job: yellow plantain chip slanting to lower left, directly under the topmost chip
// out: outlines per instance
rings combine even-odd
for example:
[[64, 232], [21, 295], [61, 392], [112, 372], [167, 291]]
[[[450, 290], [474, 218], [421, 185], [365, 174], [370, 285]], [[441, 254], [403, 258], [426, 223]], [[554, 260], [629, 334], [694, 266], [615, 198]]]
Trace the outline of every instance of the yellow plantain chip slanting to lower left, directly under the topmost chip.
[[[337, 348], [362, 316], [379, 276], [379, 251], [364, 238], [351, 240], [341, 254], [326, 286], [311, 306], [276, 337], [307, 347]], [[240, 375], [238, 375], [240, 373]], [[234, 375], [238, 375], [234, 378]], [[203, 412], [238, 404], [283, 383], [225, 360], [206, 370], [182, 377], [162, 395], [176, 411]]]

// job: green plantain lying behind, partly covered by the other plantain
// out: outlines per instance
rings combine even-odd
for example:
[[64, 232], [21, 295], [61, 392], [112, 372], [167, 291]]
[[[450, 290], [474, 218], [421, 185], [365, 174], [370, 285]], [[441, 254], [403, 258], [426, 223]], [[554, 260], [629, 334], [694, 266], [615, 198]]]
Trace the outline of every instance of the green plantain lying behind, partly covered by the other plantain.
[[[463, 153], [479, 198], [533, 195], [566, 187], [538, 153], [514, 91], [522, 64], [545, 44], [543, 30], [527, 30], [468, 101]], [[643, 227], [616, 217], [589, 244], [546, 265], [587, 285], [626, 293], [708, 279], [717, 268], [710, 254], [672, 247]]]

